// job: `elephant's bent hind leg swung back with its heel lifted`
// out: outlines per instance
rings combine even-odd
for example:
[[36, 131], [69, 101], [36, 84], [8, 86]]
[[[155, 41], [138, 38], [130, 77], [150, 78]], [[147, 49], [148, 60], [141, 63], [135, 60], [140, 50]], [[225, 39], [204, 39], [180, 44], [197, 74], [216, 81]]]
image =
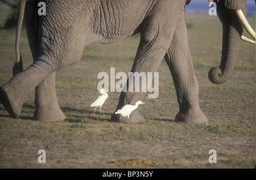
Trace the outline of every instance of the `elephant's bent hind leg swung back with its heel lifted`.
[[0, 87], [1, 103], [11, 117], [19, 117], [22, 105], [28, 95], [52, 72], [54, 71], [51, 65], [42, 60], [36, 61], [23, 72], [15, 74], [9, 82]]

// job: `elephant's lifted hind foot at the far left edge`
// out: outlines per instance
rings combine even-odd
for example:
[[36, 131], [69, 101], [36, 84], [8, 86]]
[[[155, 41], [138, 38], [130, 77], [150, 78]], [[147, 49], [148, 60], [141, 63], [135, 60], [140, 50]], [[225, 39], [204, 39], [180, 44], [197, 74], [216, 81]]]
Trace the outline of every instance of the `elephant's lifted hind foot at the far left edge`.
[[20, 116], [23, 101], [18, 98], [16, 91], [8, 83], [0, 87], [0, 102], [11, 118]]

